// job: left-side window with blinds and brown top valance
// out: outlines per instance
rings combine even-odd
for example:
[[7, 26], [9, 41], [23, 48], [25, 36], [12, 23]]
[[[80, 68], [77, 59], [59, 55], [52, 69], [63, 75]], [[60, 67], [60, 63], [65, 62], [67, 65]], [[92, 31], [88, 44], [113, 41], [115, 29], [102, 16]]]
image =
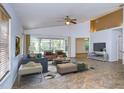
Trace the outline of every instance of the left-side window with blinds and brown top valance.
[[9, 16], [0, 4], [0, 81], [9, 72]]

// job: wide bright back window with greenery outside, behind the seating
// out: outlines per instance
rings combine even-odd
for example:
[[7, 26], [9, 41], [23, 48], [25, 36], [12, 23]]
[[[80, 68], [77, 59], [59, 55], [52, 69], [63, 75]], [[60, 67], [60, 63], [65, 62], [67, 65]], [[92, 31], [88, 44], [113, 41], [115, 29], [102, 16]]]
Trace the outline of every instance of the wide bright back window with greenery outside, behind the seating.
[[32, 37], [30, 38], [30, 53], [43, 53], [46, 50], [63, 50], [67, 52], [67, 40], [64, 38], [52, 38], [52, 39], [43, 39]]

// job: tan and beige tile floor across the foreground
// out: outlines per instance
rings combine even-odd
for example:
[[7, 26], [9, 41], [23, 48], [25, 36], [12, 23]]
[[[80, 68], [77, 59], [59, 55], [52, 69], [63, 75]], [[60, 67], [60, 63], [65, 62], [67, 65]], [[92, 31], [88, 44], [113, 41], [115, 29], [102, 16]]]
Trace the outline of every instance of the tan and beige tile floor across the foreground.
[[[91, 59], [79, 60], [95, 69], [85, 72], [70, 73], [66, 75], [56, 74], [53, 79], [40, 81], [40, 74], [25, 76], [21, 79], [21, 86], [16, 83], [13, 88], [19, 89], [123, 89], [124, 65], [120, 63], [101, 62]], [[50, 64], [49, 64], [50, 65]], [[49, 70], [56, 72], [55, 66], [49, 66]]]

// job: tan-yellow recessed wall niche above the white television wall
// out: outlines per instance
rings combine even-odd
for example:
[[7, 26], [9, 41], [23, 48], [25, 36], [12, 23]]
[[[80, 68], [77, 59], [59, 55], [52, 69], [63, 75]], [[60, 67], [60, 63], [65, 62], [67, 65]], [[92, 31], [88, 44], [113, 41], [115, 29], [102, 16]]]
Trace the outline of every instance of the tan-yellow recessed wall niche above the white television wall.
[[105, 30], [121, 26], [123, 23], [123, 9], [116, 10], [110, 14], [90, 21], [91, 32]]

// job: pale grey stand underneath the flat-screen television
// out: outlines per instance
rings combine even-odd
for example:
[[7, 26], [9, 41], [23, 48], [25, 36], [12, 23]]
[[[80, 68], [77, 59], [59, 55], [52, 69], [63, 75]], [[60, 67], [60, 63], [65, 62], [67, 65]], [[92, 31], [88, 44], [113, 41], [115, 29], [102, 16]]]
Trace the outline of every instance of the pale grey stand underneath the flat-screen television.
[[88, 54], [88, 58], [99, 61], [108, 61], [108, 54], [105, 51], [94, 51]]

